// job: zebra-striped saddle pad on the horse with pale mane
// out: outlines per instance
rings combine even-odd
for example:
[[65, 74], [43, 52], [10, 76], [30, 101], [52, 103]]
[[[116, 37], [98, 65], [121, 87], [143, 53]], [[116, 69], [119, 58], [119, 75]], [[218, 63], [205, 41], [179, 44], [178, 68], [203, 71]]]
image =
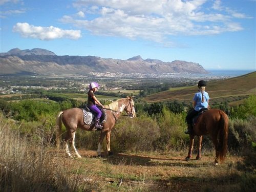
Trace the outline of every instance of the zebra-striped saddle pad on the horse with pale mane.
[[[107, 116], [106, 116], [106, 110], [105, 109], [101, 109], [102, 115], [99, 119], [100, 124], [106, 122]], [[87, 125], [92, 125], [95, 124], [95, 117], [96, 117], [96, 113], [91, 111], [87, 106], [85, 106], [85, 108], [82, 109], [82, 114], [83, 114], [83, 122], [84, 124]]]

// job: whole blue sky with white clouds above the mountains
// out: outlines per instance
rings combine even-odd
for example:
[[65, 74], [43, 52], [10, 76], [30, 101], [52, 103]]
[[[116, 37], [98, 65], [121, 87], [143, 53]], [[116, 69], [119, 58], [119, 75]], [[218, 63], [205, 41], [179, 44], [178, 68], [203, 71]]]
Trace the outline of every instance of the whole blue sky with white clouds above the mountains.
[[256, 70], [256, 0], [0, 0], [0, 52], [197, 62]]

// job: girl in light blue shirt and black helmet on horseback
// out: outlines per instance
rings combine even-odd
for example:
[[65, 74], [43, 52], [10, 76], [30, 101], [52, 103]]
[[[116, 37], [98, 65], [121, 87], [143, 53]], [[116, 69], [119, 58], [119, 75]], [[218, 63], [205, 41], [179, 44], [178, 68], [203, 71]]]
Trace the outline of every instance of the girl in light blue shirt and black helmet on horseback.
[[203, 108], [209, 108], [209, 95], [205, 91], [206, 81], [200, 80], [198, 82], [198, 92], [193, 98], [193, 110], [191, 110], [186, 116], [187, 131], [185, 134], [191, 134], [193, 132], [193, 118], [200, 112]]

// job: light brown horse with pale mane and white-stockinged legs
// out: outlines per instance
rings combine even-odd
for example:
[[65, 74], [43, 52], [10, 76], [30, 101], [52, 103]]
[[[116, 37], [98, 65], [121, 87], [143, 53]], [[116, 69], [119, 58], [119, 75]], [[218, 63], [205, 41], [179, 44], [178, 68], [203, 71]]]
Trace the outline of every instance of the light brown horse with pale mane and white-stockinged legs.
[[[118, 117], [120, 117], [122, 111], [124, 110], [131, 118], [136, 116], [134, 109], [134, 101], [132, 97], [127, 97], [125, 99], [119, 99], [110, 103], [109, 105], [104, 105], [104, 109], [106, 109], [106, 121], [102, 124], [102, 130], [99, 138], [98, 150], [97, 153], [100, 156], [102, 142], [104, 137], [106, 137], [106, 150], [109, 154], [110, 151], [110, 135], [111, 130], [114, 127]], [[65, 137], [65, 145], [66, 145], [66, 153], [71, 156], [68, 146], [68, 141], [72, 143], [73, 150], [75, 151], [78, 158], [81, 158], [79, 153], [75, 147], [75, 133], [76, 129], [80, 127], [82, 130], [86, 131], [95, 131], [94, 124], [87, 125], [83, 121], [83, 113], [82, 109], [72, 108], [69, 110], [61, 111], [58, 113], [56, 118], [56, 144], [57, 147], [60, 146], [60, 138], [61, 138], [61, 125], [63, 124], [66, 127], [67, 133]]]

